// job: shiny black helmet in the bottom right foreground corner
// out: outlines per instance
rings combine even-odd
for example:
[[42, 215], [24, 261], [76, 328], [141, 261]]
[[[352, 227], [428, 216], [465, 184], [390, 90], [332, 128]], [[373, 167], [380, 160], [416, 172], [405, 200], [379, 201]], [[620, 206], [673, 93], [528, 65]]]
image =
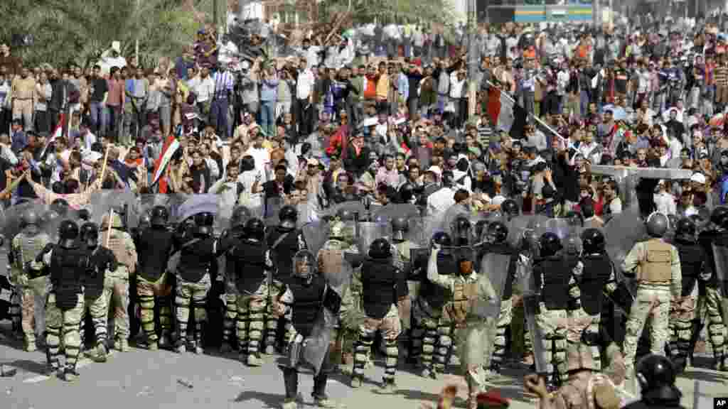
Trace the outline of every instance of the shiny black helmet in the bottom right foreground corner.
[[635, 372], [642, 389], [642, 399], [680, 400], [682, 393], [675, 387], [677, 373], [667, 357], [649, 354], [637, 362]]

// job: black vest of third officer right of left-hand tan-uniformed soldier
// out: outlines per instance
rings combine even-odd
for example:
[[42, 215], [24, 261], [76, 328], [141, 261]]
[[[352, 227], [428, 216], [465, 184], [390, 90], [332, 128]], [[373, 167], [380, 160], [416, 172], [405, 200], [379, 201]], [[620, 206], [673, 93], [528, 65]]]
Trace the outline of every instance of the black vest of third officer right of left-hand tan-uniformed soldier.
[[255, 293], [266, 280], [266, 251], [264, 242], [243, 239], [230, 252], [235, 265], [236, 287], [241, 294]]

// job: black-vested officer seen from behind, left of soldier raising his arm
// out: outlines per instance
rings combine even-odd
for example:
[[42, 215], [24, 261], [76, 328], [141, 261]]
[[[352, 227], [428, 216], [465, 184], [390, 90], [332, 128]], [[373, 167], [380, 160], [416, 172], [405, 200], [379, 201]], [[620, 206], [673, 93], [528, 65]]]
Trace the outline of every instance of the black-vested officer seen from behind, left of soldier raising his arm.
[[400, 317], [397, 303], [407, 298], [407, 285], [403, 272], [392, 265], [392, 246], [387, 239], [376, 239], [369, 247], [369, 258], [362, 266], [363, 309], [367, 316], [359, 327], [355, 346], [352, 387], [361, 386], [364, 378], [366, 354], [371, 350], [374, 335], [381, 331], [387, 346], [387, 361], [382, 388], [393, 392], [397, 371], [397, 336], [400, 335]]

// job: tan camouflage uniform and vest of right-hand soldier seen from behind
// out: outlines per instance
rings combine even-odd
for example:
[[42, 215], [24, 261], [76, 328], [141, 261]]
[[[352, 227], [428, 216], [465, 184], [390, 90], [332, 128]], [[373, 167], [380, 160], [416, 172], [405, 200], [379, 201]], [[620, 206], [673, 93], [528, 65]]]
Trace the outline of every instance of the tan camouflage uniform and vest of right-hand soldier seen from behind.
[[630, 309], [625, 335], [627, 376], [633, 373], [637, 343], [647, 317], [651, 317], [652, 354], [664, 355], [670, 339], [668, 331], [670, 301], [679, 298], [682, 290], [680, 255], [678, 250], [662, 239], [637, 242], [622, 262], [625, 274], [637, 269], [637, 293]]

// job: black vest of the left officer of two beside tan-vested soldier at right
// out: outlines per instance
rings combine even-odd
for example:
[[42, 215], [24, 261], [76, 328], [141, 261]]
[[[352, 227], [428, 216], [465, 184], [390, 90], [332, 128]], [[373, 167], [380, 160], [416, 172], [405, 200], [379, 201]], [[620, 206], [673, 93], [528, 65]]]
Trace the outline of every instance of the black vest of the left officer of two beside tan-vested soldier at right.
[[560, 255], [542, 258], [534, 265], [536, 287], [547, 309], [566, 309], [569, 303], [569, 262]]

